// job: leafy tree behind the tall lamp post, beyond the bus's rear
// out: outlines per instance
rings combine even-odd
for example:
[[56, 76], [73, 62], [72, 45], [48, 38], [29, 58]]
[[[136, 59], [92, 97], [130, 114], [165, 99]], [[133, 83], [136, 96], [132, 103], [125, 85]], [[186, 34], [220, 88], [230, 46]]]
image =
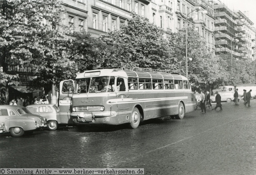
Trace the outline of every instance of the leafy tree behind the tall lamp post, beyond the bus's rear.
[[[224, 77], [220, 60], [209, 53], [205, 40], [194, 28], [187, 28], [187, 32], [188, 79], [191, 83], [212, 87]], [[186, 75], [186, 30], [173, 33], [169, 41], [178, 59], [178, 73]]]

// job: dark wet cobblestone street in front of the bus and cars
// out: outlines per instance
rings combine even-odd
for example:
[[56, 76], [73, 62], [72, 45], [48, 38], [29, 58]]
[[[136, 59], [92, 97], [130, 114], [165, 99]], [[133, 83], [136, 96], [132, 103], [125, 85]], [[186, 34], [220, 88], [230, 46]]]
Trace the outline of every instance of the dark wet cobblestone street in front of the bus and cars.
[[[216, 103], [213, 103], [215, 107]], [[144, 168], [146, 175], [255, 175], [256, 100], [183, 120], [0, 135], [2, 168]]]

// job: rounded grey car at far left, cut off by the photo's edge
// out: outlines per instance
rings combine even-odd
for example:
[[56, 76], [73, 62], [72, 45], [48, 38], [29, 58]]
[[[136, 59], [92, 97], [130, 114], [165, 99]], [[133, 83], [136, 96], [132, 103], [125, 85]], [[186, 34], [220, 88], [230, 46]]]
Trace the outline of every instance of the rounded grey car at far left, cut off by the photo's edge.
[[20, 137], [25, 131], [47, 127], [46, 118], [31, 114], [25, 107], [0, 105], [0, 133]]

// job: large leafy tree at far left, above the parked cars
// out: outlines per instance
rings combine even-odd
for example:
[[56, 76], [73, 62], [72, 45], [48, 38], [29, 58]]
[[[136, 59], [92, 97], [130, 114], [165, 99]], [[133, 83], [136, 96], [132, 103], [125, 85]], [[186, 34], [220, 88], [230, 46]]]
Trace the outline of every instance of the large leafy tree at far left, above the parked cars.
[[[60, 28], [62, 12], [58, 0], [0, 1], [0, 50], [4, 71], [7, 65], [33, 66], [39, 78], [48, 79], [34, 84], [49, 87], [54, 71], [72, 65], [66, 45], [72, 39]], [[56, 78], [55, 78], [56, 79]]]

